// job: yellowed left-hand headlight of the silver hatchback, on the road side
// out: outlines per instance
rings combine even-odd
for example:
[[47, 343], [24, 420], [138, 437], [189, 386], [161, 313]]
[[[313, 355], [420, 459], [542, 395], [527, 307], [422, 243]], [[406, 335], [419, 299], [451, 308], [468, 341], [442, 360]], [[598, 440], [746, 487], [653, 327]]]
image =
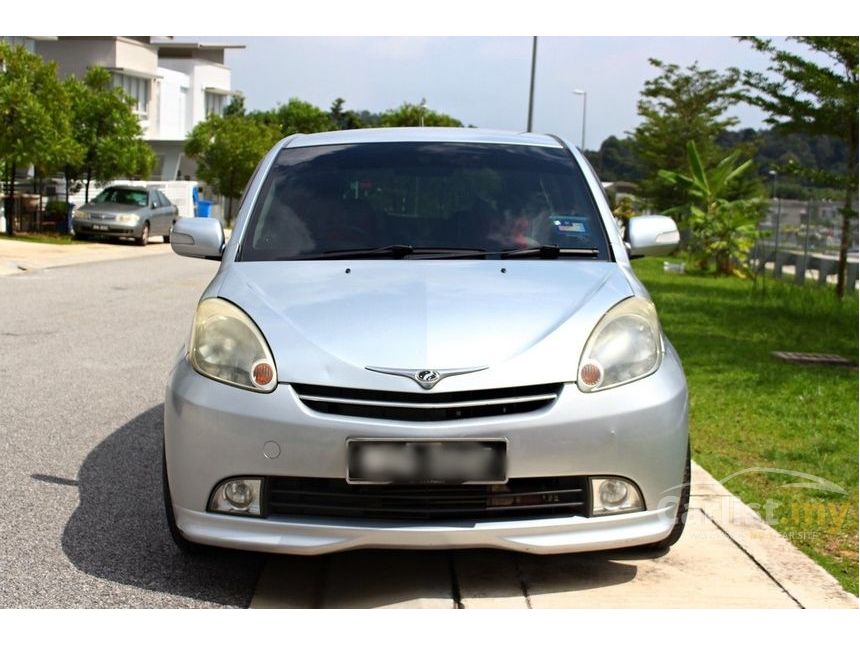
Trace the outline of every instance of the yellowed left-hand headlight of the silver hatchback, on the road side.
[[278, 384], [260, 330], [244, 311], [220, 298], [197, 306], [189, 356], [195, 370], [216, 381], [258, 392], [271, 392]]

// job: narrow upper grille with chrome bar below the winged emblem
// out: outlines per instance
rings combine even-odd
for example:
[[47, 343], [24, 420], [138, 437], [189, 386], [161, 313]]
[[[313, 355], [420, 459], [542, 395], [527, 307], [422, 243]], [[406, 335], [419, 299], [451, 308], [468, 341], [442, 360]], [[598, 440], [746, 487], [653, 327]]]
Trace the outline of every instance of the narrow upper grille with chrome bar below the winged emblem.
[[316, 412], [397, 421], [452, 421], [534, 412], [552, 405], [562, 385], [531, 385], [468, 392], [409, 393], [293, 384]]

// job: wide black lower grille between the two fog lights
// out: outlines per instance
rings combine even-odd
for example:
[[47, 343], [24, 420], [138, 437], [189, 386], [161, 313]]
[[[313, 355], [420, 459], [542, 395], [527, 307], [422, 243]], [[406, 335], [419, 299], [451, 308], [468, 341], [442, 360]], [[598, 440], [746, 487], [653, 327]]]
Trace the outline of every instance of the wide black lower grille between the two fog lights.
[[270, 477], [264, 514], [386, 520], [559, 517], [588, 512], [585, 477], [530, 477], [506, 484], [348, 484], [344, 479]]

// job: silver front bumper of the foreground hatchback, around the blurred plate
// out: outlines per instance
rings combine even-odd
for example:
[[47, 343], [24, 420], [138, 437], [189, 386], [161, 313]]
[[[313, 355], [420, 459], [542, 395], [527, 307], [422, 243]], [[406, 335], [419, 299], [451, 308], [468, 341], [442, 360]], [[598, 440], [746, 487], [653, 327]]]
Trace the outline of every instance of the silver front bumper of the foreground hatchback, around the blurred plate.
[[[193, 542], [309, 555], [367, 547], [594, 551], [653, 543], [671, 532], [686, 464], [687, 388], [669, 346], [655, 374], [589, 394], [567, 384], [544, 410], [403, 422], [317, 413], [288, 384], [249, 392], [199, 375], [181, 357], [167, 387], [164, 428], [174, 515]], [[434, 522], [207, 512], [213, 488], [227, 477], [345, 477], [350, 437], [504, 438], [509, 477], [622, 476], [638, 485], [645, 510]], [[275, 459], [263, 453], [269, 442], [280, 447]]]

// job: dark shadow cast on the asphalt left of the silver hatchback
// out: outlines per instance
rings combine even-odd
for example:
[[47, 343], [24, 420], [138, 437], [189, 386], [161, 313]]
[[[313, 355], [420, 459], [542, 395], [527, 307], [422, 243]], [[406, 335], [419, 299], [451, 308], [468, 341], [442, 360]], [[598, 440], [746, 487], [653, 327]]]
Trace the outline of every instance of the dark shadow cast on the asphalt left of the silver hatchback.
[[80, 505], [63, 551], [81, 571], [141, 589], [222, 605], [250, 603], [262, 556], [238, 551], [188, 557], [174, 546], [161, 492], [163, 406], [96, 446], [78, 473]]

